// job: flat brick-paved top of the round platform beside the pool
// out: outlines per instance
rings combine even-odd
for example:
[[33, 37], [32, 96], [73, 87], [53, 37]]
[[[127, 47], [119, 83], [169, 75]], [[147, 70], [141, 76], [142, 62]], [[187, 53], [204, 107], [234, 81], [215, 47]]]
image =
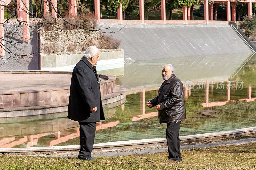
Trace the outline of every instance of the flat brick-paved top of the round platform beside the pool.
[[0, 94], [69, 89], [70, 74], [0, 74]]

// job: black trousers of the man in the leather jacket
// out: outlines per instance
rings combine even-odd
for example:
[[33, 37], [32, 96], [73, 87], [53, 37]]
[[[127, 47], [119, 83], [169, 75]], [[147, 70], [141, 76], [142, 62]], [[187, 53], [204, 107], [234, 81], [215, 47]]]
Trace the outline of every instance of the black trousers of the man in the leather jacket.
[[176, 161], [181, 161], [179, 137], [180, 123], [181, 121], [169, 122], [167, 123], [166, 128], [166, 139], [169, 152], [168, 158]]

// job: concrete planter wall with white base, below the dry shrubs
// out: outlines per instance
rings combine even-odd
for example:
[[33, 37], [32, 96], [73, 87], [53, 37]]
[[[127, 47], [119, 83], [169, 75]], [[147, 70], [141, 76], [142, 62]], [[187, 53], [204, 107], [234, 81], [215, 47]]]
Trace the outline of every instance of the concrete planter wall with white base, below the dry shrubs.
[[[41, 55], [41, 70], [47, 71], [72, 71], [76, 63], [84, 56], [84, 51], [79, 53], [56, 53]], [[124, 50], [100, 50], [100, 60], [96, 68], [100, 74], [113, 76], [124, 75]]]

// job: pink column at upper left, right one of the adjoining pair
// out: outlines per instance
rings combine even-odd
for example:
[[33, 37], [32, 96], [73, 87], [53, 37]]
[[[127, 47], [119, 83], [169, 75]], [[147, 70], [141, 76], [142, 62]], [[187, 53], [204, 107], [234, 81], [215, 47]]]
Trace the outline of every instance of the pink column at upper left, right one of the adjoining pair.
[[23, 1], [23, 31], [24, 31], [24, 41], [30, 40], [30, 23], [29, 23], [29, 0]]

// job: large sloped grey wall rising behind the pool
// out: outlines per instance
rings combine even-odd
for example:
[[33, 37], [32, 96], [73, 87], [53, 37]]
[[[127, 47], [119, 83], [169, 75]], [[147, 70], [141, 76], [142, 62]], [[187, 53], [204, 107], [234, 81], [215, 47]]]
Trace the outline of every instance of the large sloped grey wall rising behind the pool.
[[228, 24], [100, 24], [121, 40], [124, 61], [252, 53]]

